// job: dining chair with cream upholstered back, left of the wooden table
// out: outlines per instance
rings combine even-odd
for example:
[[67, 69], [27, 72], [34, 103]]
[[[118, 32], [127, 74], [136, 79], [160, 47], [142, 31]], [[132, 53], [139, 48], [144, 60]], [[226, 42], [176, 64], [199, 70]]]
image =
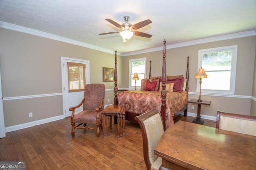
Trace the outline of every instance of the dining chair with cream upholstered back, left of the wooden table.
[[153, 109], [135, 117], [140, 124], [143, 140], [143, 155], [147, 170], [159, 170], [162, 158], [154, 154], [164, 133], [162, 117], [157, 109]]

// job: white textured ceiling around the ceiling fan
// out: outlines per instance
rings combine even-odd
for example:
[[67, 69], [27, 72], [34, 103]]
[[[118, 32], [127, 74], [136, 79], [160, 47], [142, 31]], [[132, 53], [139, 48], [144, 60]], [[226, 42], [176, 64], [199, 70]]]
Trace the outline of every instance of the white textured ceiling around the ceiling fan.
[[[124, 16], [151, 38], [133, 36], [123, 43]], [[1, 23], [58, 35], [118, 53], [131, 53], [198, 39], [256, 30], [256, 0], [0, 0]]]

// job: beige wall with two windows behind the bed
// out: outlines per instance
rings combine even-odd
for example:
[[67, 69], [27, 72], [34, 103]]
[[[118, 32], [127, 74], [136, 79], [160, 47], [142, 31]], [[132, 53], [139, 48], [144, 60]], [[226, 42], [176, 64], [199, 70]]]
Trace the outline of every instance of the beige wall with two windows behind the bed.
[[[198, 45], [190, 45], [166, 50], [166, 71], [167, 75], [186, 75], [186, 61], [189, 56], [189, 90], [188, 100], [198, 99], [199, 94], [196, 93], [196, 79], [194, 76], [198, 71], [198, 50], [214, 47], [223, 47], [230, 45], [238, 45], [237, 71], [236, 71], [236, 88], [234, 97], [222, 96], [205, 96], [202, 95], [202, 100], [212, 101], [212, 104], [201, 107], [201, 114], [216, 117], [216, 111], [227, 111], [243, 115], [250, 115], [252, 84], [254, 76], [255, 62], [255, 47], [256, 36], [217, 41], [212, 43], [204, 43]], [[147, 70], [149, 63], [152, 60], [152, 76], [160, 76], [162, 74], [162, 56], [163, 51], [152, 53], [144, 53], [139, 55], [128, 56], [124, 58], [124, 63], [128, 63], [129, 59], [147, 57]], [[128, 70], [128, 66], [124, 66]], [[128, 71], [123, 75], [128, 75]], [[148, 77], [147, 72], [147, 77]], [[246, 76], [245, 76], [246, 75]], [[202, 80], [203, 81], [203, 80]], [[128, 87], [128, 80], [123, 82]], [[197, 113], [197, 106], [194, 110], [190, 109], [191, 104], [188, 104], [188, 112]]]

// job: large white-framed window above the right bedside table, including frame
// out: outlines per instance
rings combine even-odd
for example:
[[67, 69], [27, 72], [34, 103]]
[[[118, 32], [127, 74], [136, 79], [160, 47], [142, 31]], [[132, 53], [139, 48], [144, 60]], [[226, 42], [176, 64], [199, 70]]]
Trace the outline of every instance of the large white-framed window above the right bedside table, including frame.
[[[198, 51], [198, 70], [204, 68], [207, 78], [202, 79], [201, 92], [234, 94], [236, 80], [237, 45]], [[200, 91], [199, 80], [196, 92]]]

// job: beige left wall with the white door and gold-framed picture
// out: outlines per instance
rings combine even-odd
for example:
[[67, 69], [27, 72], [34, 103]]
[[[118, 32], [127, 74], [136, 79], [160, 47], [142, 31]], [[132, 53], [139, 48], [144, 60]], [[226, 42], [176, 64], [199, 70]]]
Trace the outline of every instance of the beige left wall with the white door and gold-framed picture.
[[[90, 83], [105, 84], [105, 105], [112, 104], [114, 82], [103, 82], [103, 67], [114, 68], [114, 53], [3, 28], [0, 37], [2, 95], [11, 98], [3, 100], [5, 127], [63, 115], [62, 95], [26, 98], [62, 93], [61, 57], [90, 61]], [[121, 59], [118, 56], [118, 72]], [[25, 99], [16, 99], [20, 96]], [[29, 112], [33, 117], [28, 117]]]

